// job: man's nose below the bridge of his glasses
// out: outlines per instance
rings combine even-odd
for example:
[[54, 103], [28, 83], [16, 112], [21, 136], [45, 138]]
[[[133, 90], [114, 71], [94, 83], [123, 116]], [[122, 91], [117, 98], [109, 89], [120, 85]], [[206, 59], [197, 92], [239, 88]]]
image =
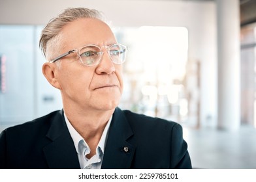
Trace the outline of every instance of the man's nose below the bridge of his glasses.
[[110, 59], [110, 56], [108, 55], [108, 51], [104, 50], [104, 53], [101, 57], [101, 62], [99, 62], [95, 71], [99, 75], [104, 75], [104, 74], [108, 75], [116, 71], [114, 62], [112, 62], [112, 60]]

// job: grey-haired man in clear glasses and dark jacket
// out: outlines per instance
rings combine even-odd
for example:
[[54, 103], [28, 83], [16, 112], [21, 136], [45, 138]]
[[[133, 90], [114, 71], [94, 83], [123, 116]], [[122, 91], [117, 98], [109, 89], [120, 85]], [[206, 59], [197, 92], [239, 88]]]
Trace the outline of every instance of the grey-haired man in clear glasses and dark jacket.
[[42, 30], [42, 72], [63, 109], [0, 135], [0, 168], [191, 168], [178, 123], [118, 108], [127, 47], [97, 10], [68, 8]]

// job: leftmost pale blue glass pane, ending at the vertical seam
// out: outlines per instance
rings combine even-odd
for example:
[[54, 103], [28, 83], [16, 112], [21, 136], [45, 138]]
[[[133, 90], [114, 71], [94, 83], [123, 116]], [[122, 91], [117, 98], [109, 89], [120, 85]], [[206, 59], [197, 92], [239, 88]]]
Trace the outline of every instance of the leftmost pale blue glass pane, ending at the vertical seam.
[[0, 26], [0, 54], [5, 56], [5, 92], [0, 93], [0, 127], [34, 117], [33, 26]]

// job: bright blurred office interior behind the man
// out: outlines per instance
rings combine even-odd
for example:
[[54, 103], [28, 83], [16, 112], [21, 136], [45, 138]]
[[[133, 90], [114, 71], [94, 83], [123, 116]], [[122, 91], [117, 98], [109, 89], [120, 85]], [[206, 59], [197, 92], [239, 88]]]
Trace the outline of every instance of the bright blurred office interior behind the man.
[[121, 109], [180, 123], [194, 168], [256, 168], [256, 0], [0, 0], [0, 131], [62, 108], [39, 36], [78, 6], [129, 46]]

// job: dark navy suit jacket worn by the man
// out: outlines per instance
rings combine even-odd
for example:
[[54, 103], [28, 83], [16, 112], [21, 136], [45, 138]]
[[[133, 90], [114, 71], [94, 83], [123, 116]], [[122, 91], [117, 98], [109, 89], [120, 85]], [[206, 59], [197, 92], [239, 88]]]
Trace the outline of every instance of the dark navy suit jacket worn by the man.
[[[5, 129], [0, 168], [80, 168], [63, 110]], [[191, 168], [181, 125], [116, 108], [101, 168]]]

